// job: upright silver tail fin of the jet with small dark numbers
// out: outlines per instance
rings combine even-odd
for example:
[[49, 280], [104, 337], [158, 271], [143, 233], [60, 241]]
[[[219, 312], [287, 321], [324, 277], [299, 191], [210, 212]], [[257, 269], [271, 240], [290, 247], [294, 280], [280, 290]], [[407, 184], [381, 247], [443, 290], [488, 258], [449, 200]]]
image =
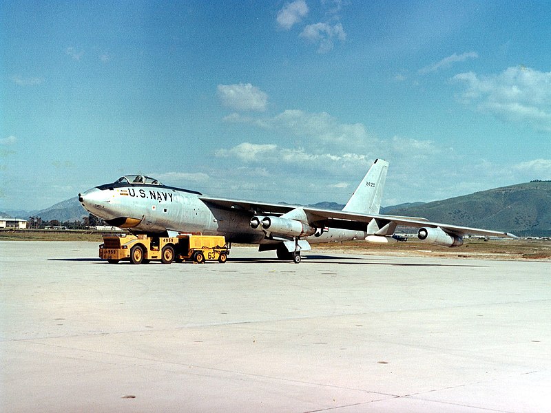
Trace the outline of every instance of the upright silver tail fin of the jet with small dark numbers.
[[376, 159], [342, 211], [379, 213], [388, 162]]

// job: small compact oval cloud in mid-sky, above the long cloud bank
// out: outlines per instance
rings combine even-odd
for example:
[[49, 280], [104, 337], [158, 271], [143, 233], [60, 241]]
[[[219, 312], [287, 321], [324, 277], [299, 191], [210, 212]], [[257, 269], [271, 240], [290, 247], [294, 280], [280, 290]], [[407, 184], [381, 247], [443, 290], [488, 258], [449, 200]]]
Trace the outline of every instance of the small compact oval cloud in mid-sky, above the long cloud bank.
[[264, 112], [268, 95], [251, 83], [218, 85], [218, 98], [225, 107], [238, 111]]

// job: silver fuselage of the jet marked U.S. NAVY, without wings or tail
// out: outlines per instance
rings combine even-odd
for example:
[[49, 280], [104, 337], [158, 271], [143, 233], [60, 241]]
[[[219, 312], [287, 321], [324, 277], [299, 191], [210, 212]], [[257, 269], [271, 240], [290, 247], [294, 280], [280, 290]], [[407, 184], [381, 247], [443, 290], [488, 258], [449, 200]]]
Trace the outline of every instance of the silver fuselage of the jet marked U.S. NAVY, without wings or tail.
[[[249, 225], [256, 211], [241, 204], [218, 207], [201, 200], [201, 193], [162, 184], [115, 182], [79, 194], [83, 207], [105, 222], [128, 228], [134, 233], [202, 233], [225, 235], [228, 242], [271, 244], [280, 242], [266, 237]], [[304, 237], [309, 242], [363, 240], [366, 231], [324, 229]]]

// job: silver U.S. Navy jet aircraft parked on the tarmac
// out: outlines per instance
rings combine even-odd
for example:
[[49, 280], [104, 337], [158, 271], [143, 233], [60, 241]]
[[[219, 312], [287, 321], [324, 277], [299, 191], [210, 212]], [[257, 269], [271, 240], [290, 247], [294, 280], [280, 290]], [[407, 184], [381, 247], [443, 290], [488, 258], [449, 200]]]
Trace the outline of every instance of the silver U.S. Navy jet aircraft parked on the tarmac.
[[79, 201], [108, 224], [132, 233], [225, 235], [227, 242], [259, 244], [259, 251], [275, 250], [280, 260], [296, 263], [300, 252], [315, 242], [396, 242], [398, 225], [417, 228], [419, 240], [449, 247], [461, 246], [466, 234], [514, 237], [424, 218], [381, 215], [387, 170], [386, 160], [375, 160], [342, 211], [213, 198], [142, 175], [123, 176], [79, 193]]

